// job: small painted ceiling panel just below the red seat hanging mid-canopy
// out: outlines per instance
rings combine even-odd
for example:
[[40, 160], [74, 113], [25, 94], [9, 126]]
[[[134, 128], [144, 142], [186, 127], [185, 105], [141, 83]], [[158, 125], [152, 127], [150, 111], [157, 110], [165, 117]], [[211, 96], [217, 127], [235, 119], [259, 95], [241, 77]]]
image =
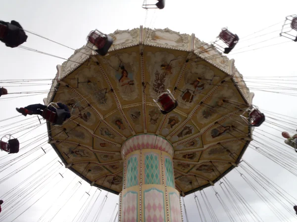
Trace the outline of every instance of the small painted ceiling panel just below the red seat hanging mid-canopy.
[[[181, 114], [176, 111], [170, 112], [164, 121], [164, 125], [162, 130], [160, 131], [160, 134], [164, 137], [171, 134], [173, 131], [177, 130], [179, 126], [187, 119], [187, 116], [185, 114]], [[191, 128], [192, 129], [192, 128]], [[194, 128], [193, 128], [194, 129]], [[181, 135], [179, 135], [181, 136]], [[178, 137], [179, 139], [181, 137]], [[176, 138], [175, 138], [176, 139]]]

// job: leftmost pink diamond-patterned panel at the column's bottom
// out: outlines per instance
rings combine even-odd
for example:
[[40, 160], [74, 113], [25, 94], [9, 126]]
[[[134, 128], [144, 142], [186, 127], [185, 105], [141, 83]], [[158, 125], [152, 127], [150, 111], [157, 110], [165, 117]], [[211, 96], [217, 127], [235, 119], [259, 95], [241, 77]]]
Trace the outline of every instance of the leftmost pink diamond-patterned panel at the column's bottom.
[[138, 197], [137, 192], [129, 191], [123, 195], [122, 221], [138, 222]]

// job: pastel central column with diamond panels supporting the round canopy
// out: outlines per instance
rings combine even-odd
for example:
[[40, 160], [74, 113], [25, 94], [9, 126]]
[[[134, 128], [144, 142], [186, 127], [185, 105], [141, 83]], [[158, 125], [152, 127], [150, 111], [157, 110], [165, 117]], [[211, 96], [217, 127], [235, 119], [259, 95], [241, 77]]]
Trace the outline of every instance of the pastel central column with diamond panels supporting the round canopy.
[[171, 144], [159, 136], [138, 135], [123, 144], [121, 154], [119, 222], [182, 222]]

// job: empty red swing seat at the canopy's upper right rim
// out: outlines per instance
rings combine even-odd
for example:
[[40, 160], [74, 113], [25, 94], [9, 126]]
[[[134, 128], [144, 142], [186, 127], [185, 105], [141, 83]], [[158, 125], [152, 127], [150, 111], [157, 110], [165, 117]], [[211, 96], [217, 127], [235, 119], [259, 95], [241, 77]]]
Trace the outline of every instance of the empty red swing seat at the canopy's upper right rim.
[[[220, 51], [224, 52], [225, 54], [228, 54], [231, 52], [231, 50], [236, 46], [236, 44], [239, 41], [239, 37], [236, 34], [231, 33], [228, 29], [223, 28], [220, 32], [218, 39], [221, 40], [224, 44], [220, 45], [216, 42], [214, 42], [217, 46], [215, 46]], [[227, 46], [227, 47], [225, 47]], [[224, 49], [224, 50], [222, 50]]]

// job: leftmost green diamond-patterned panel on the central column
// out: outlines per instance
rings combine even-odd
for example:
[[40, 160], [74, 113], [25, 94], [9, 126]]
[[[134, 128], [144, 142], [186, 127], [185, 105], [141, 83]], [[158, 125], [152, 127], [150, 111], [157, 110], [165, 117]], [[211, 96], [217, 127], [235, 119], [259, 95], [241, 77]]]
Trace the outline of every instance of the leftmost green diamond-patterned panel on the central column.
[[126, 187], [138, 185], [138, 156], [133, 155], [127, 161], [127, 185]]

